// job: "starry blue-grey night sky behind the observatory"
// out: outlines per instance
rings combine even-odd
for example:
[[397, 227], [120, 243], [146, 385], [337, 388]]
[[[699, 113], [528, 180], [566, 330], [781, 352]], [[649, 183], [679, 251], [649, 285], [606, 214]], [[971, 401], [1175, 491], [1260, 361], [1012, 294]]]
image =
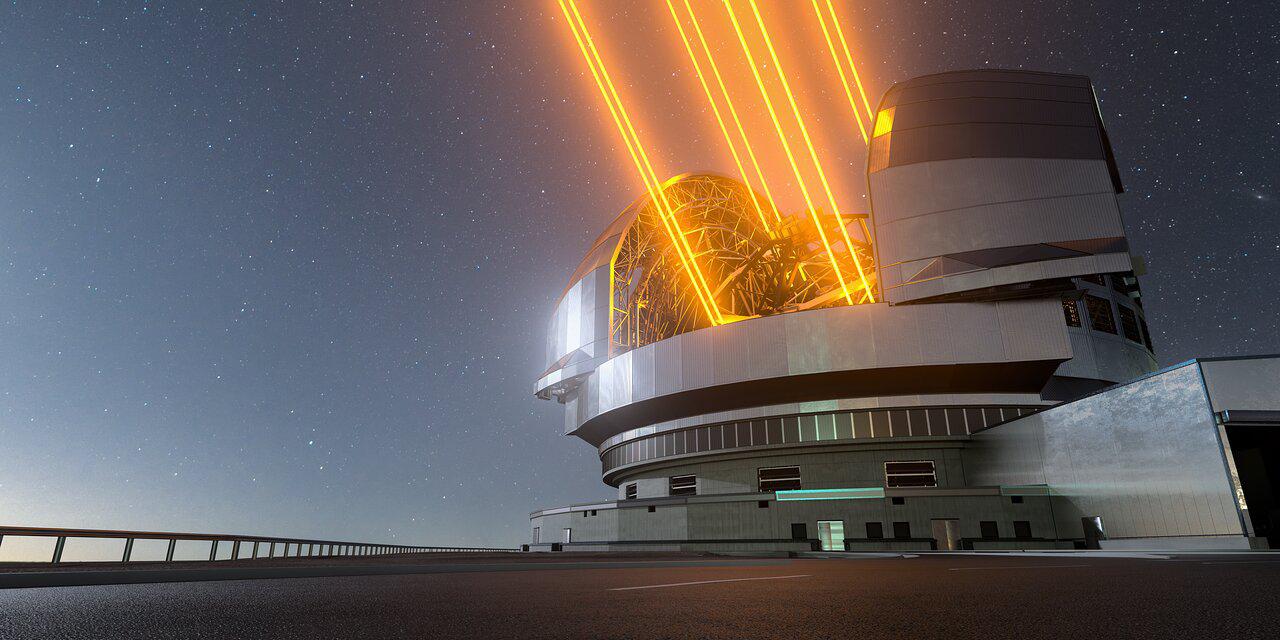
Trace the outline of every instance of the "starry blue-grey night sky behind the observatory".
[[[842, 6], [876, 97], [1091, 76], [1161, 364], [1280, 352], [1271, 3]], [[728, 172], [648, 55], [678, 46], [664, 5], [585, 8], [639, 42], [616, 76], [673, 78], [631, 88], [659, 173]], [[613, 495], [532, 397], [641, 191], [563, 27], [552, 0], [0, 6], [0, 524], [511, 545]]]

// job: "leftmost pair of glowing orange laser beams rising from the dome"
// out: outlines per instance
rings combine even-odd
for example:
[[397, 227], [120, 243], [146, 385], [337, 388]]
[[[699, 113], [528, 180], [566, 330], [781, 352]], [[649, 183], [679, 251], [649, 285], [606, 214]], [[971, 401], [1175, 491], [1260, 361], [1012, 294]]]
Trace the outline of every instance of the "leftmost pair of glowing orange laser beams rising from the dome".
[[[671, 205], [667, 202], [662, 186], [653, 170], [653, 165], [644, 151], [644, 146], [640, 143], [640, 137], [636, 133], [635, 127], [631, 124], [631, 119], [622, 105], [622, 99], [618, 96], [612, 78], [609, 78], [608, 69], [604, 67], [604, 60], [600, 58], [600, 54], [591, 40], [590, 31], [586, 28], [586, 22], [582, 19], [582, 14], [579, 12], [573, 0], [557, 0], [557, 4], [564, 14], [564, 19], [573, 33], [573, 40], [577, 41], [582, 58], [586, 60], [588, 68], [591, 70], [591, 77], [595, 79], [595, 84], [600, 90], [600, 95], [604, 97], [604, 102], [609, 109], [609, 115], [613, 116], [618, 133], [622, 134], [627, 151], [631, 155], [631, 160], [636, 165], [636, 170], [640, 173], [641, 180], [645, 183], [645, 189], [648, 189], [649, 197], [654, 202], [654, 206], [659, 210], [659, 218], [672, 239], [672, 244], [676, 248], [676, 253], [680, 257], [682, 266], [689, 273], [689, 278], [692, 282], [695, 292], [698, 293], [699, 302], [703, 305], [703, 308], [707, 311], [707, 316], [713, 325], [723, 324], [719, 308], [712, 298], [710, 287], [707, 285], [707, 279], [703, 276], [701, 271], [698, 269], [698, 264], [694, 261], [694, 252], [689, 246], [689, 239], [680, 229], [680, 223], [671, 211]], [[570, 13], [570, 9], [572, 9], [572, 14]]]

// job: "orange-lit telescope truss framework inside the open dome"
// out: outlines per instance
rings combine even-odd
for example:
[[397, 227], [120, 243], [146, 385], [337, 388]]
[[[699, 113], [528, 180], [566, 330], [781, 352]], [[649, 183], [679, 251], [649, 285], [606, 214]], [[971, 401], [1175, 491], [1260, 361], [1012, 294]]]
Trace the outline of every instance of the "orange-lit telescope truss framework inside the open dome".
[[[640, 198], [611, 260], [611, 356], [713, 324], [849, 303], [815, 219], [828, 237], [841, 237], [846, 225], [854, 246], [835, 244], [836, 260], [855, 273], [856, 253], [874, 288], [864, 216], [778, 215], [768, 200], [716, 174], [677, 175], [660, 189], [675, 220], [664, 221], [652, 197]], [[767, 228], [765, 220], [776, 223]], [[668, 225], [682, 230], [721, 323], [708, 316]], [[867, 291], [855, 292], [854, 303], [868, 301]]]

